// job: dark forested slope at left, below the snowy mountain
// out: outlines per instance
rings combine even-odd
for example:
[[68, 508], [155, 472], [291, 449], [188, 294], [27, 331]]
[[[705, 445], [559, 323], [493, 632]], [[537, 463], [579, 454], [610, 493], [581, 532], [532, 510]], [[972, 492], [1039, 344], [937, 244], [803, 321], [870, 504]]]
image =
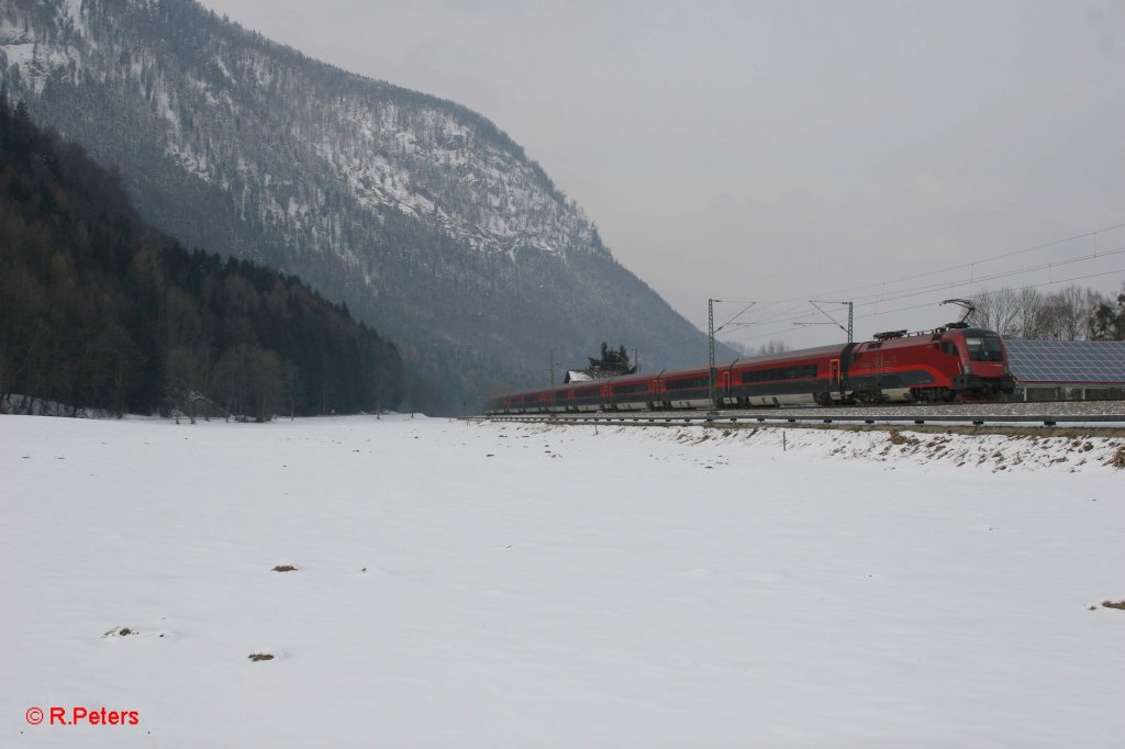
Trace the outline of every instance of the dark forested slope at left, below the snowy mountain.
[[145, 226], [116, 173], [0, 91], [0, 401], [258, 421], [403, 395], [397, 350], [299, 279]]

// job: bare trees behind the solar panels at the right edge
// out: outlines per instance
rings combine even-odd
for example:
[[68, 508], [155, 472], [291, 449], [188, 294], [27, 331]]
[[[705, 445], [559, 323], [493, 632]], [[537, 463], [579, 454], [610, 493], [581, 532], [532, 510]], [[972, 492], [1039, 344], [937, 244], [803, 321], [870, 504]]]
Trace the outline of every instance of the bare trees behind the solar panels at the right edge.
[[981, 291], [969, 322], [1012, 339], [1125, 341], [1125, 285], [1116, 297], [1069, 286], [1051, 294], [1035, 288]]

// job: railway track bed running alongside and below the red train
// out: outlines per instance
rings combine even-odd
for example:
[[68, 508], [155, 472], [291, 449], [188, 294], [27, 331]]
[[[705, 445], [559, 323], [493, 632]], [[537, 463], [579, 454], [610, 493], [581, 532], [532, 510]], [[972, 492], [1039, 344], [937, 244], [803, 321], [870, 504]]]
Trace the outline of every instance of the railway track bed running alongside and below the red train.
[[618, 410], [502, 414], [476, 419], [516, 423], [613, 425], [915, 425], [1125, 428], [1125, 400], [956, 404], [839, 408], [738, 408], [720, 410]]

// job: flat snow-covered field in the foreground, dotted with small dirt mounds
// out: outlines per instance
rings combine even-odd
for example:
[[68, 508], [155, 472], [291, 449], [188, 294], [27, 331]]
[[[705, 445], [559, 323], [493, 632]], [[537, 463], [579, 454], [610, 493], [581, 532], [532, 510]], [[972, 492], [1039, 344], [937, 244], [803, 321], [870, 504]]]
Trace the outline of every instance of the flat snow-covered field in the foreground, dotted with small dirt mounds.
[[1125, 441], [782, 433], [0, 416], [0, 746], [1120, 746]]

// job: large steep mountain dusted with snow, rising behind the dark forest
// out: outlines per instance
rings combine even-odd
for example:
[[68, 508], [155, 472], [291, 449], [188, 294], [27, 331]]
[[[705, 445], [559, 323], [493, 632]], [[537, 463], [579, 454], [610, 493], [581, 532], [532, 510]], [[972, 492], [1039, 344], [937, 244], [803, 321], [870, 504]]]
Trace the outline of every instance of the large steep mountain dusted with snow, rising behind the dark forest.
[[386, 331], [415, 399], [472, 409], [602, 341], [703, 336], [494, 124], [309, 60], [190, 0], [2, 0], [0, 74], [189, 246], [299, 273]]

